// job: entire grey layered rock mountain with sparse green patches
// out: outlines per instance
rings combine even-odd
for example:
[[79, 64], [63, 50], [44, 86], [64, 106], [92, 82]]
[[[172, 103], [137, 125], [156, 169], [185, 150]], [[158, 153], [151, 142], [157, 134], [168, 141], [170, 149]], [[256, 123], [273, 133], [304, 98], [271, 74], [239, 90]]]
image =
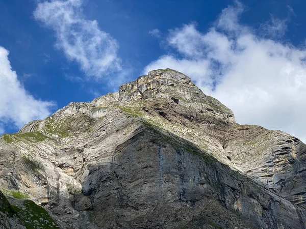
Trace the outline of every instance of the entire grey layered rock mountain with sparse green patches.
[[306, 228], [305, 152], [155, 70], [4, 134], [0, 187], [62, 228]]

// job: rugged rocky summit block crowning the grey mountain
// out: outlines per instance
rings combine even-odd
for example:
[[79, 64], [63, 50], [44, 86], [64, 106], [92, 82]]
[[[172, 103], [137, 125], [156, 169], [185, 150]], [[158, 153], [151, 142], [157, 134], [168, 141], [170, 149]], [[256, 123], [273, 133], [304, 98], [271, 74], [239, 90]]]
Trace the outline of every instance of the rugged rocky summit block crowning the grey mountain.
[[166, 98], [174, 103], [193, 108], [201, 113], [211, 113], [227, 122], [235, 123], [234, 113], [217, 99], [205, 95], [185, 74], [172, 69], [158, 69], [142, 75], [119, 88], [118, 102], [127, 105], [139, 99]]

